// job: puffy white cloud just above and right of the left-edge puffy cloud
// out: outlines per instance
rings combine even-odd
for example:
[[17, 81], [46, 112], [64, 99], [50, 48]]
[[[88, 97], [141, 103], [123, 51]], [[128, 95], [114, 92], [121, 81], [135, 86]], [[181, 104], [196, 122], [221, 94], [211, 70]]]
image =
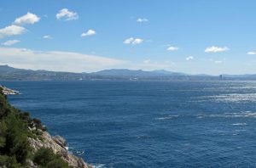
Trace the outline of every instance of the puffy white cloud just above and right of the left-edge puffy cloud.
[[15, 25], [27, 25], [27, 24], [34, 24], [38, 22], [40, 18], [36, 14], [27, 13], [20, 18], [17, 18], [14, 22]]

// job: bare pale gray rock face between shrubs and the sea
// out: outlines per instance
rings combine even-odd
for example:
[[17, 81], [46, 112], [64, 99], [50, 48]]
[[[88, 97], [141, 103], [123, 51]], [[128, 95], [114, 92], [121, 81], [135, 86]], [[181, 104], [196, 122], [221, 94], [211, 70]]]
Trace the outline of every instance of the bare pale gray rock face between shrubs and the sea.
[[90, 165], [87, 165], [81, 158], [68, 153], [67, 148], [65, 148], [67, 142], [63, 137], [51, 137], [48, 132], [43, 132], [42, 137], [44, 141], [41, 141], [38, 138], [33, 139], [28, 137], [28, 141], [30, 142], [35, 152], [42, 147], [50, 148], [55, 154], [60, 154], [61, 158], [65, 160], [68, 165], [71, 165], [75, 168], [92, 168]]

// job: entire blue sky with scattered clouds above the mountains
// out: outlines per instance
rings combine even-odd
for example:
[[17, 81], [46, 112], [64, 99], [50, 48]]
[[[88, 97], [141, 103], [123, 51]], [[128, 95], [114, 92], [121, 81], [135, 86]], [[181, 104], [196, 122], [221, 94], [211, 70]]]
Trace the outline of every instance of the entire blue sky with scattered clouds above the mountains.
[[0, 64], [256, 73], [255, 8], [253, 0], [1, 1]]

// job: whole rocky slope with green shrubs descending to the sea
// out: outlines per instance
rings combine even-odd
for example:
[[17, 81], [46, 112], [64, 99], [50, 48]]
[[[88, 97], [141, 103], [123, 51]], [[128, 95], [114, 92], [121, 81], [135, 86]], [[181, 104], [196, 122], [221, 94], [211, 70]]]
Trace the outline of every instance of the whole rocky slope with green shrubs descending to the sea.
[[50, 137], [46, 127], [27, 112], [12, 107], [0, 87], [0, 167], [88, 168], [68, 154], [62, 137]]

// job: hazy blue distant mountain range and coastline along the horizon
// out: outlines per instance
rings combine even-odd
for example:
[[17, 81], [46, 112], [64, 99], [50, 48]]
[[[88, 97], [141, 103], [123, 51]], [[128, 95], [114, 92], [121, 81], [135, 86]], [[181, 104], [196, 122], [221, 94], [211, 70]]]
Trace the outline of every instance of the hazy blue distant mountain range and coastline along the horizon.
[[67, 81], [67, 80], [256, 80], [256, 75], [189, 75], [167, 70], [111, 69], [92, 73], [24, 70], [0, 65], [0, 80]]

